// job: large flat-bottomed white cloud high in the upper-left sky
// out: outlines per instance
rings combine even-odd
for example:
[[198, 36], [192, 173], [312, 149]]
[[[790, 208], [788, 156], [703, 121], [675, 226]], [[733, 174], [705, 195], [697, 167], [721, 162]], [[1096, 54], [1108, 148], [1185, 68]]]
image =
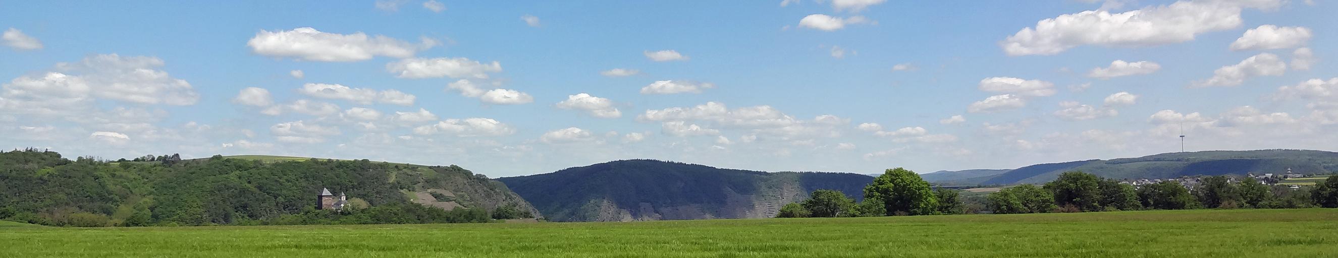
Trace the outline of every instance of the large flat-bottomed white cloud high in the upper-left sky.
[[375, 56], [412, 57], [421, 49], [434, 47], [434, 40], [413, 44], [388, 36], [368, 36], [363, 32], [351, 35], [316, 31], [310, 27], [292, 31], [261, 29], [246, 41], [252, 52], [272, 57], [293, 57], [310, 61], [361, 61]]

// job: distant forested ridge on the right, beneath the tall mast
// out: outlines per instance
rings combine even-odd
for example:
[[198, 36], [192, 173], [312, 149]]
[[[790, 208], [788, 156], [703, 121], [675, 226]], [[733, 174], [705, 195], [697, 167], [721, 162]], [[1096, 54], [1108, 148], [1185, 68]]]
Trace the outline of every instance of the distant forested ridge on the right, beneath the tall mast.
[[1338, 152], [1311, 150], [1169, 152], [1141, 158], [1033, 164], [971, 180], [979, 184], [1044, 183], [1058, 178], [1061, 172], [1074, 170], [1113, 179], [1159, 179], [1250, 172], [1284, 174], [1287, 168], [1297, 174], [1331, 174], [1338, 171]]

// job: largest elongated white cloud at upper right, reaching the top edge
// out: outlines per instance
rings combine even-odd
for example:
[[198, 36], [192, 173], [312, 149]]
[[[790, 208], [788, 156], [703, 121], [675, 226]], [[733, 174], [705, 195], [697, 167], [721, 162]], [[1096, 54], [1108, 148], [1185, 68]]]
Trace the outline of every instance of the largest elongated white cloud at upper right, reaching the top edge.
[[1084, 11], [1045, 19], [999, 41], [1012, 56], [1054, 55], [1078, 45], [1147, 47], [1193, 40], [1240, 27], [1242, 8], [1274, 9], [1282, 0], [1181, 0], [1128, 12]]

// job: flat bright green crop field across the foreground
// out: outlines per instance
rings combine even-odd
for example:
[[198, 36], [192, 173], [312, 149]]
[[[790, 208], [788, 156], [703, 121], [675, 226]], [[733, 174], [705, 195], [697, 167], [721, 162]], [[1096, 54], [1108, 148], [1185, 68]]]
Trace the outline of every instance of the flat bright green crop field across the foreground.
[[1338, 209], [632, 223], [0, 227], [0, 257], [1335, 257]]

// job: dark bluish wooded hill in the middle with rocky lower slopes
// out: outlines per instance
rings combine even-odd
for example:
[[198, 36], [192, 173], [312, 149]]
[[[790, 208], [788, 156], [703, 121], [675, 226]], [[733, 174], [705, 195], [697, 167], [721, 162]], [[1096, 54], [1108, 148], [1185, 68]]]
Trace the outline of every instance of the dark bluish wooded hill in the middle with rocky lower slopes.
[[550, 221], [768, 218], [819, 188], [862, 199], [872, 176], [761, 172], [660, 160], [617, 160], [499, 178]]

